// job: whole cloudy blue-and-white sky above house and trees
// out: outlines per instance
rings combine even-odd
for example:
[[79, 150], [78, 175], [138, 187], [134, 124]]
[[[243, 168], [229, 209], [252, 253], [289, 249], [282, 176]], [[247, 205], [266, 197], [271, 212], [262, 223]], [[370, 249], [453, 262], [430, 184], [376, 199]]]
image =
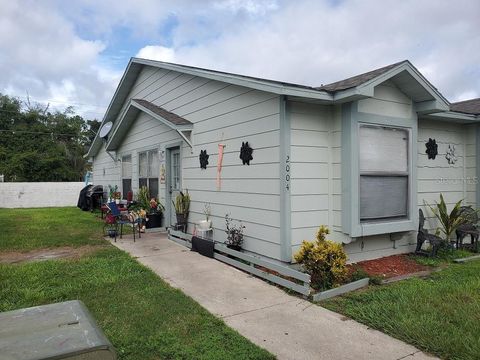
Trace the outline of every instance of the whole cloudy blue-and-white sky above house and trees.
[[0, 93], [102, 119], [131, 57], [320, 86], [410, 60], [480, 97], [478, 0], [0, 0]]

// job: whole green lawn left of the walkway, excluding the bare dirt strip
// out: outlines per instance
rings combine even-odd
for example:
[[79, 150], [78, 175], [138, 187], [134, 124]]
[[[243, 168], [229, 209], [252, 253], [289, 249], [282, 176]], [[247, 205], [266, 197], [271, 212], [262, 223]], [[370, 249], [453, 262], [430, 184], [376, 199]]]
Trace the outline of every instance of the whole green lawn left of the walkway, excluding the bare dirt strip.
[[74, 246], [103, 246], [76, 260], [0, 264], [0, 311], [80, 299], [120, 359], [274, 358], [126, 253], [105, 248], [101, 222], [92, 214], [3, 209], [0, 225], [18, 216], [30, 221], [0, 235], [3, 251], [65, 246], [69, 239]]

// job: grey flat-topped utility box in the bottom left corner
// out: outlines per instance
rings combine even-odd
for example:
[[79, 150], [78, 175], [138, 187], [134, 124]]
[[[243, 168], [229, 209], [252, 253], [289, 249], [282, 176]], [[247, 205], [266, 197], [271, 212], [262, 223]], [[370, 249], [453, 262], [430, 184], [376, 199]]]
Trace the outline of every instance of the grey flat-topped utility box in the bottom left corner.
[[0, 313], [2, 360], [114, 360], [115, 350], [78, 300]]

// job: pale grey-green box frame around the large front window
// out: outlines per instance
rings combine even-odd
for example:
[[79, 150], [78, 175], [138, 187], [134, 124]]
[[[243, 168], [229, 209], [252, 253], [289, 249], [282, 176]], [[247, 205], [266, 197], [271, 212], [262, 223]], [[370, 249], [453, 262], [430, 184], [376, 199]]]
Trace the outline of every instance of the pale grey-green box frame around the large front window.
[[[342, 231], [351, 237], [412, 231], [417, 207], [417, 116], [396, 118], [357, 111], [357, 102], [342, 105]], [[400, 128], [409, 133], [407, 217], [360, 221], [359, 129], [361, 125]]]

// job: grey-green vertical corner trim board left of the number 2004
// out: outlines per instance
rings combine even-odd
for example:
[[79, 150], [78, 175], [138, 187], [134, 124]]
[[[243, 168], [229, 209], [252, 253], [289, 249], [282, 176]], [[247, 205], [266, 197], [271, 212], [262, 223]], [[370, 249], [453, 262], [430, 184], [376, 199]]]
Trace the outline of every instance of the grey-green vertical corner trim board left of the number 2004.
[[280, 117], [280, 256], [282, 261], [292, 261], [292, 213], [290, 202], [290, 116], [287, 98], [279, 97]]

